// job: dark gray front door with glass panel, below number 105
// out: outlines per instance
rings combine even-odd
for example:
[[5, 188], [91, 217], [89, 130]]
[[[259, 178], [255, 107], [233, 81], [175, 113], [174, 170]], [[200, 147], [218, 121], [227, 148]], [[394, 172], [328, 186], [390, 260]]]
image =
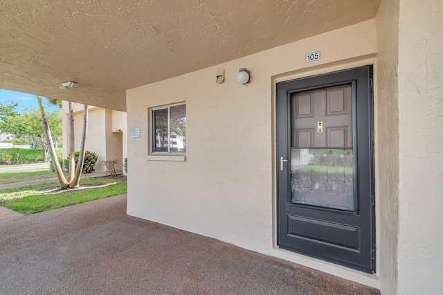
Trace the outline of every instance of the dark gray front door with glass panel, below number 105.
[[372, 66], [277, 85], [278, 244], [374, 271]]

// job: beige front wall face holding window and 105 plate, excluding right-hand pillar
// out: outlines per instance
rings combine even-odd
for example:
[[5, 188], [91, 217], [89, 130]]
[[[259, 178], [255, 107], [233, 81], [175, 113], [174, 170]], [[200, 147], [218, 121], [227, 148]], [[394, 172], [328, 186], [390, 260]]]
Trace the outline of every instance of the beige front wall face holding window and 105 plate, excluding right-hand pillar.
[[[305, 54], [317, 50], [322, 59], [305, 64]], [[375, 52], [372, 19], [129, 89], [127, 127], [140, 127], [141, 137], [128, 136], [127, 213], [309, 265], [305, 256], [273, 247], [273, 76], [346, 69], [352, 66], [350, 60]], [[309, 66], [311, 71], [305, 69]], [[221, 67], [226, 79], [216, 84], [216, 69]], [[250, 84], [236, 81], [241, 67], [251, 70]], [[186, 102], [186, 161], [148, 161], [148, 109], [174, 102]], [[313, 263], [346, 276], [344, 268]]]

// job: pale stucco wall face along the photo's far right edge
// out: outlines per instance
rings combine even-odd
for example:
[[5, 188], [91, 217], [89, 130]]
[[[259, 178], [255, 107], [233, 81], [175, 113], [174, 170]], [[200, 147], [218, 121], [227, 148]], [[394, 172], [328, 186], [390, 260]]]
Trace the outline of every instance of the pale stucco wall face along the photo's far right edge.
[[443, 1], [401, 0], [399, 294], [443, 293]]

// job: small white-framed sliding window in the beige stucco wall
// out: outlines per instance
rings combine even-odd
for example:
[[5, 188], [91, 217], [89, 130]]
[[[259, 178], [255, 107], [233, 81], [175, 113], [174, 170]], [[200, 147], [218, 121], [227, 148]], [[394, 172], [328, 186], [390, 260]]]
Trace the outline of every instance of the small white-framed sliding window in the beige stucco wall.
[[186, 152], [186, 105], [168, 105], [151, 109], [152, 152]]

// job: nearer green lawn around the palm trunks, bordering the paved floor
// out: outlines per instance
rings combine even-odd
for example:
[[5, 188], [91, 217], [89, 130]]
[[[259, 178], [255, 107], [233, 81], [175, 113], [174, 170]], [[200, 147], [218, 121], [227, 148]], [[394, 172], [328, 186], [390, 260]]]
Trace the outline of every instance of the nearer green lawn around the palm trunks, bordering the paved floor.
[[[88, 185], [105, 185], [100, 188], [86, 188]], [[44, 194], [44, 189], [60, 188], [58, 183], [37, 184], [34, 186], [23, 186], [21, 188], [9, 188], [1, 190], [0, 206], [5, 206], [30, 215], [43, 211], [49, 211], [65, 206], [71, 206], [94, 199], [103, 199], [115, 195], [127, 193], [126, 181], [112, 178], [87, 178], [80, 179], [80, 190], [69, 190], [67, 193], [53, 195]]]

